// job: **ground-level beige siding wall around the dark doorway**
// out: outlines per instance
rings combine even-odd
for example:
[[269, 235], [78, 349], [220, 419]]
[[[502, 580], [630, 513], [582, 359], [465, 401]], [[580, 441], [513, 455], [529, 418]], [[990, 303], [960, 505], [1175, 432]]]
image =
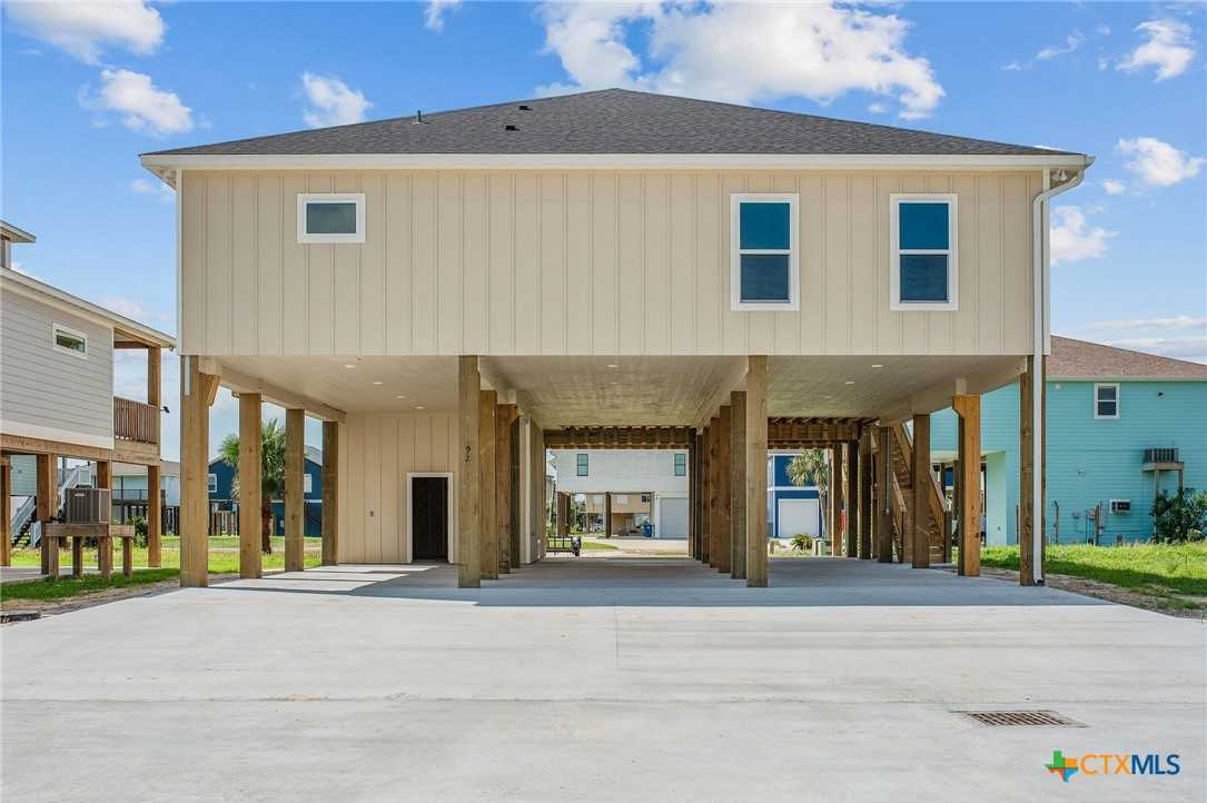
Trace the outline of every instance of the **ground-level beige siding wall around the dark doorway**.
[[[454, 471], [456, 438], [453, 413], [348, 414], [339, 432], [339, 563], [410, 561], [407, 475]], [[454, 505], [450, 543], [455, 533]]]

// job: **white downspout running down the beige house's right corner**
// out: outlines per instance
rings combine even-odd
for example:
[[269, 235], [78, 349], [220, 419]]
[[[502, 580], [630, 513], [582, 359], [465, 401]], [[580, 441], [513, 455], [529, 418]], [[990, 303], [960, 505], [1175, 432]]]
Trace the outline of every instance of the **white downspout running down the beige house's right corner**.
[[[1089, 167], [1094, 164], [1094, 157], [1088, 156], [1085, 158], [1085, 165], [1068, 181], [1061, 184], [1057, 187], [1051, 186], [1051, 170], [1044, 170], [1044, 190], [1031, 203], [1031, 267], [1032, 267], [1032, 355], [1034, 359], [1034, 365], [1038, 367], [1043, 363], [1044, 355], [1051, 351], [1050, 347], [1050, 333], [1051, 326], [1048, 320], [1048, 279], [1049, 279], [1049, 214], [1050, 204], [1049, 202], [1056, 196], [1068, 192], [1069, 190], [1077, 187], [1085, 179], [1085, 171]], [[1039, 374], [1037, 370], [1037, 374]], [[1044, 497], [1043, 497], [1043, 483], [1044, 483], [1044, 471], [1040, 469], [1044, 466], [1044, 438], [1043, 438], [1043, 405], [1044, 398], [1048, 395], [1046, 386], [1046, 371], [1043, 374], [1036, 377], [1036, 386], [1032, 389], [1031, 394], [1031, 432], [1032, 432], [1032, 466], [1034, 470], [1031, 472], [1031, 549], [1032, 549], [1032, 580], [1034, 580], [1037, 586], [1044, 583], [1044, 539], [1048, 534], [1044, 531]], [[1018, 523], [1015, 523], [1018, 524]]]

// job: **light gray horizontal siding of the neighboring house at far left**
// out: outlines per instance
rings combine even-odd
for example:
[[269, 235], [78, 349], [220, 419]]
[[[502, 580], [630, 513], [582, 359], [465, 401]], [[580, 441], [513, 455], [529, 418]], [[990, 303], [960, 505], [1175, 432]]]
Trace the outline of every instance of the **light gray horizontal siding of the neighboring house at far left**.
[[[0, 426], [8, 435], [113, 448], [113, 332], [6, 290], [0, 298]], [[59, 324], [87, 355], [54, 348]]]

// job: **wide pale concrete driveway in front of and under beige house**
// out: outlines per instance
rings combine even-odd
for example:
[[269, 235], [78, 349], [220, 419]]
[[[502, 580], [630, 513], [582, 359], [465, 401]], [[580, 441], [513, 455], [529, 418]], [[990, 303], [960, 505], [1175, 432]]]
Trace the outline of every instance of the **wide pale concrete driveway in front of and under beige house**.
[[[11, 801], [1202, 801], [1207, 635], [844, 559], [340, 566], [2, 632]], [[1086, 727], [986, 727], [1044, 709]], [[1178, 753], [1074, 775], [1053, 751]]]

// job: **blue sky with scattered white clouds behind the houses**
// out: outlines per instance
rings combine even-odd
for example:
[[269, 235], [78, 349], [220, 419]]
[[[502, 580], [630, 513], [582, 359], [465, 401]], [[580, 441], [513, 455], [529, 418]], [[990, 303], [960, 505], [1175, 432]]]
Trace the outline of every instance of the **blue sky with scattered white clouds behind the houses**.
[[[37, 235], [16, 251], [22, 270], [174, 332], [171, 197], [138, 153], [629, 86], [1092, 153], [1054, 213], [1054, 331], [1207, 360], [1205, 17], [1121, 2], [6, 2], [0, 205]], [[138, 371], [119, 366], [119, 391], [138, 395]], [[214, 440], [233, 426], [225, 400]]]

